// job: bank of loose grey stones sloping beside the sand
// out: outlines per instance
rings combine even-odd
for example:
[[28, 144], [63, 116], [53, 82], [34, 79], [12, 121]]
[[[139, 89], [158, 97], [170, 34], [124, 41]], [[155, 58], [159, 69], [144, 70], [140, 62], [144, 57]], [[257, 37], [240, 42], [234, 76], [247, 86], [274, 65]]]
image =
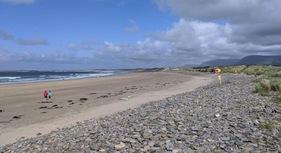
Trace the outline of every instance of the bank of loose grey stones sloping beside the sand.
[[253, 93], [254, 77], [217, 75], [195, 91], [151, 101], [0, 147], [0, 152], [281, 152], [281, 106]]

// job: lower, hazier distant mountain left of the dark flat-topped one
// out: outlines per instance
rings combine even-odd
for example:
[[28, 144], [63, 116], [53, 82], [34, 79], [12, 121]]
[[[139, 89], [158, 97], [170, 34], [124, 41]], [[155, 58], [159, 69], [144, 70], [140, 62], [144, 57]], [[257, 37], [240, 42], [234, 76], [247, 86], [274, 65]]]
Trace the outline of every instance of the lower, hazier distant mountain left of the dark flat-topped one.
[[217, 60], [210, 60], [203, 62], [200, 64], [200, 67], [205, 67], [205, 66], [232, 66], [236, 65], [237, 62], [239, 62], [240, 59], [217, 59]]

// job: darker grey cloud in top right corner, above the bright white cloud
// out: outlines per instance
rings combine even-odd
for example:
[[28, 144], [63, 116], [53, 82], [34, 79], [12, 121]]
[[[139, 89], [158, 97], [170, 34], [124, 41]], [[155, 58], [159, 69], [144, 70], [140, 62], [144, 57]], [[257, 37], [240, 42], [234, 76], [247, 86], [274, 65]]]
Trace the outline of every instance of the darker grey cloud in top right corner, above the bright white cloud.
[[281, 43], [281, 3], [272, 1], [192, 1], [156, 0], [159, 8], [188, 21], [228, 23], [232, 30], [230, 41], [236, 43]]

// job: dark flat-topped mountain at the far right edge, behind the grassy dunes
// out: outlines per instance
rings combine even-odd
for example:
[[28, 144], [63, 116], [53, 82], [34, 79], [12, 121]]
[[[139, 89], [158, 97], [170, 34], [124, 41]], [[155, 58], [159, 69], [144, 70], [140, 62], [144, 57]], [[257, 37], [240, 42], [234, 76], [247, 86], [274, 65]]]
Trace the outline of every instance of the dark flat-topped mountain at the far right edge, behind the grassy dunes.
[[281, 65], [281, 55], [277, 56], [246, 56], [235, 65]]

